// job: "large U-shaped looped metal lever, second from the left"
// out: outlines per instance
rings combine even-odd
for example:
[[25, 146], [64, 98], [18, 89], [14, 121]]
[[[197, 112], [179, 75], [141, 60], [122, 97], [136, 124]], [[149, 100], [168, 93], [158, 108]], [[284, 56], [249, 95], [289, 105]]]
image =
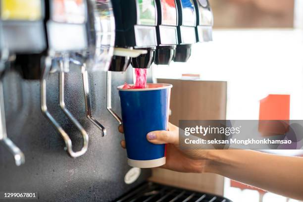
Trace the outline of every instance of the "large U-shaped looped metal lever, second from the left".
[[[72, 120], [72, 122], [77, 126], [77, 128], [80, 130], [80, 132], [83, 135], [83, 148], [78, 151], [74, 152], [72, 149], [72, 142], [68, 134], [63, 130], [63, 128], [59, 125], [59, 123], [51, 116], [50, 112], [48, 111], [47, 107], [47, 78], [50, 73], [50, 68], [51, 68], [51, 61], [52, 58], [50, 56], [46, 57], [43, 62], [44, 62], [44, 69], [43, 69], [43, 74], [41, 78], [41, 110], [44, 113], [44, 115], [50, 120], [51, 124], [55, 127], [55, 129], [58, 131], [58, 133], [61, 135], [61, 137], [64, 140], [65, 143], [65, 150], [69, 153], [71, 157], [79, 157], [83, 155], [87, 149], [88, 149], [88, 134], [84, 130], [84, 128], [81, 126], [81, 124], [70, 114], [70, 112], [65, 108], [65, 103], [64, 103], [64, 73], [62, 73], [63, 69], [60, 69], [59, 73], [59, 79], [60, 79], [60, 106], [63, 109], [64, 113]], [[62, 63], [61, 63], [62, 64]], [[60, 65], [60, 68], [63, 68], [63, 65]]]

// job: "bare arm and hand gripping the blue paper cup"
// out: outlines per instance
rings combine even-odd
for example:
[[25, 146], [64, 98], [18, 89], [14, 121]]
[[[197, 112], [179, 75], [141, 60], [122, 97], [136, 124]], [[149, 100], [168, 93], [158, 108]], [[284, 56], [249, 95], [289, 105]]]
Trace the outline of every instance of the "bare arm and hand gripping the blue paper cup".
[[[119, 128], [123, 132], [123, 128]], [[168, 144], [162, 168], [178, 172], [211, 172], [292, 199], [303, 200], [303, 157], [248, 150], [179, 150], [179, 128], [147, 134], [153, 144]], [[125, 141], [121, 142], [125, 148]]]

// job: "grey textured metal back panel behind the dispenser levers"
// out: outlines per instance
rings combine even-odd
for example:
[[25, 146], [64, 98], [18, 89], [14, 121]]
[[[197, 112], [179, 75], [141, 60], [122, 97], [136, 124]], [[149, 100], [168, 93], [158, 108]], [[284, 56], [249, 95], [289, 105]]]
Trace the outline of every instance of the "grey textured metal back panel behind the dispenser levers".
[[[42, 69], [43, 70], [43, 69]], [[132, 83], [132, 72], [112, 72], [111, 105], [120, 116], [116, 86]], [[63, 150], [60, 133], [41, 112], [40, 81], [23, 80], [13, 69], [3, 78], [5, 118], [8, 137], [24, 152], [26, 163], [15, 166], [14, 159], [0, 146], [0, 190], [37, 191], [39, 202], [112, 202], [151, 176], [142, 169], [133, 184], [124, 177], [131, 169], [120, 141], [117, 121], [106, 109], [106, 72], [88, 71], [92, 115], [106, 128], [100, 130], [86, 117], [81, 68], [70, 64], [65, 74], [65, 103], [89, 133], [88, 151], [71, 158]], [[59, 107], [58, 71], [47, 78], [47, 106], [58, 124], [68, 133], [73, 148], [82, 147], [82, 136]], [[44, 186], [41, 186], [44, 185]]]

